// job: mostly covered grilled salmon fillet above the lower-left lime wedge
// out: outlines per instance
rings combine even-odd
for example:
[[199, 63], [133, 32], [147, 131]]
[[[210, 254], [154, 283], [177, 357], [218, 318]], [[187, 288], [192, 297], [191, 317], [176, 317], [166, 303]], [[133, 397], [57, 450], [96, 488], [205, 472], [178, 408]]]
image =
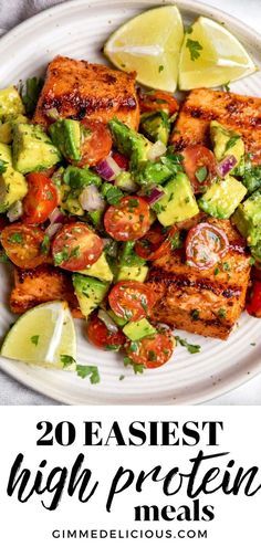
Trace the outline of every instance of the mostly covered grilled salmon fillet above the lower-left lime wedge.
[[74, 317], [82, 317], [73, 284], [61, 270], [43, 264], [34, 270], [14, 269], [14, 287], [10, 307], [14, 314], [23, 314], [38, 304], [51, 301], [66, 301]]

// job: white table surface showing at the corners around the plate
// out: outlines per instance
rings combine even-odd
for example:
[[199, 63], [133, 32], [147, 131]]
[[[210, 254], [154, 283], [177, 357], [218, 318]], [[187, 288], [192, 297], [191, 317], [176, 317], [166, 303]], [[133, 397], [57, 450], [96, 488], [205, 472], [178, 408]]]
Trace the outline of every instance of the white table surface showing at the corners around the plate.
[[[56, 0], [58, 1], [58, 0]], [[0, 1], [0, 4], [2, 2]], [[4, 3], [4, 0], [3, 0]], [[21, 0], [19, 4], [21, 6]], [[27, 2], [25, 2], [27, 3]], [[46, 4], [45, 0], [45, 4]], [[51, 2], [50, 2], [51, 3]], [[55, 2], [53, 2], [55, 3]], [[261, 33], [261, 2], [260, 0], [208, 0], [205, 2], [219, 8], [246, 21]], [[30, 2], [28, 2], [30, 4]], [[0, 6], [1, 7], [1, 6]], [[8, 21], [9, 23], [9, 21]], [[1, 10], [0, 10], [1, 28]], [[0, 404], [59, 404], [48, 397], [41, 396], [25, 388], [0, 371]], [[261, 375], [229, 393], [212, 399], [208, 404], [261, 404]]]

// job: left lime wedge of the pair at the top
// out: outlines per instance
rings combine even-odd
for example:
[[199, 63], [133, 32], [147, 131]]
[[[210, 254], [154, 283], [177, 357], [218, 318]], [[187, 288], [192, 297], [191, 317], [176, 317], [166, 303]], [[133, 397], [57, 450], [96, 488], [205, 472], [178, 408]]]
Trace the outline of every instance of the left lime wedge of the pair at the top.
[[114, 32], [105, 55], [125, 72], [136, 71], [140, 84], [175, 92], [184, 27], [176, 6], [145, 11]]

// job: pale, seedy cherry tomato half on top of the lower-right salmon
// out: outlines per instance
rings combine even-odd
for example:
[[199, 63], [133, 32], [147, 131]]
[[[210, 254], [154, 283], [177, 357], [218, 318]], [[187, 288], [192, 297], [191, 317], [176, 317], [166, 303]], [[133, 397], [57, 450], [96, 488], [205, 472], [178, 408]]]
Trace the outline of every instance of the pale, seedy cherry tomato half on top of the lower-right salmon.
[[223, 230], [201, 222], [189, 230], [186, 239], [187, 263], [198, 270], [213, 266], [228, 252], [229, 241]]

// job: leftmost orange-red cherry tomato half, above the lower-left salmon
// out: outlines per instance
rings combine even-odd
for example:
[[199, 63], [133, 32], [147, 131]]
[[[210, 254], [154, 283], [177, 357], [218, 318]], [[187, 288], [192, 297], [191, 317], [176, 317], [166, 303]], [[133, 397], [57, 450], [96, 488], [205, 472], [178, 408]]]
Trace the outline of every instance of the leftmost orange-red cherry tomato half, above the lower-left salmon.
[[44, 232], [36, 227], [22, 223], [9, 225], [2, 230], [1, 243], [15, 266], [31, 269], [46, 261]]

